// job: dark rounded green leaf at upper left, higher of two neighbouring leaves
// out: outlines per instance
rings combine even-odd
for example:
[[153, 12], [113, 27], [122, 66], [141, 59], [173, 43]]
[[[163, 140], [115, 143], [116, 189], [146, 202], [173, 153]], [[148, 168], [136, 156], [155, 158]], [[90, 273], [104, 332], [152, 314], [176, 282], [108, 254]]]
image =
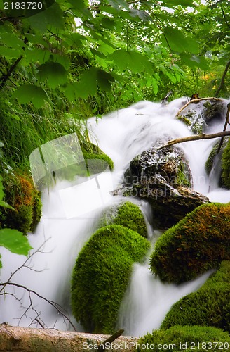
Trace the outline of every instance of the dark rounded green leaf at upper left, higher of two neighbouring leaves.
[[65, 84], [68, 80], [67, 71], [60, 63], [48, 61], [43, 63], [39, 68], [39, 80], [47, 83], [50, 88], [55, 89], [59, 84]]

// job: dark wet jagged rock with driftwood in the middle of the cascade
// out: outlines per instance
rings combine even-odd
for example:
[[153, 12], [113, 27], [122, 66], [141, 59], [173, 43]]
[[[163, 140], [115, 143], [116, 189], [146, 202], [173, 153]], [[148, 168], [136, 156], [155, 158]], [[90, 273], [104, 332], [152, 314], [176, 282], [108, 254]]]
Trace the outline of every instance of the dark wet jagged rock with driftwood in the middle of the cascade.
[[151, 204], [155, 225], [168, 228], [208, 198], [193, 191], [191, 172], [180, 149], [149, 148], [133, 158], [125, 172], [125, 186], [117, 192]]

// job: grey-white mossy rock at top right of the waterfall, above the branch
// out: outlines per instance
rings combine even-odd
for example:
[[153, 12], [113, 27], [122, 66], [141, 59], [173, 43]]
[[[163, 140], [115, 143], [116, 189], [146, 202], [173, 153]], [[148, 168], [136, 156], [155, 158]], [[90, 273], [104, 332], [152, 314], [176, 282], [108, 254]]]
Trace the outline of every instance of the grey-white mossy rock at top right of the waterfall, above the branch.
[[177, 116], [177, 119], [186, 123], [189, 130], [196, 134], [206, 131], [207, 127], [223, 120], [226, 115], [226, 102], [224, 100], [206, 99], [198, 103], [190, 103], [187, 108]]

